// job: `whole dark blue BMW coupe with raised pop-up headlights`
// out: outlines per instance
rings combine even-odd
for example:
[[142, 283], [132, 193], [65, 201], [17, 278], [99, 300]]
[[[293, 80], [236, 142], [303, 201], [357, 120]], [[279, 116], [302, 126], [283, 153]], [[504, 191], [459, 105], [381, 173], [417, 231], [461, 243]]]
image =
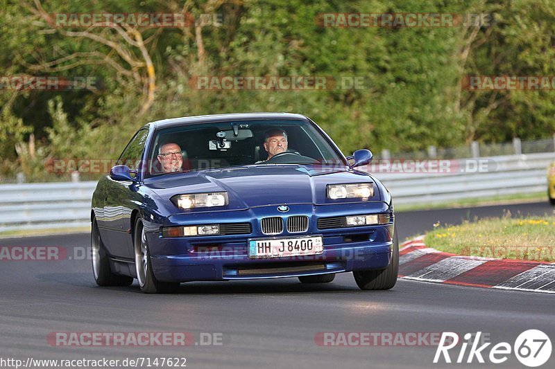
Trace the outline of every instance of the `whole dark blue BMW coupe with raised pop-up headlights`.
[[92, 197], [101, 286], [169, 292], [180, 282], [352, 271], [361, 289], [397, 281], [393, 202], [312, 120], [250, 113], [173, 118], [133, 136]]

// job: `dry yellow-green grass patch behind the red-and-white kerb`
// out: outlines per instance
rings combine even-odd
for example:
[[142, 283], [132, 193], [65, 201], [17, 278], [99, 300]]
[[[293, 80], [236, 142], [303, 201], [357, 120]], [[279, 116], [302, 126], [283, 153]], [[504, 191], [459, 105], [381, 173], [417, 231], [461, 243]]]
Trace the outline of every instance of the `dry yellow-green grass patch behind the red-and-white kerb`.
[[434, 224], [426, 246], [458, 255], [555, 262], [555, 217], [484, 218], [459, 226]]

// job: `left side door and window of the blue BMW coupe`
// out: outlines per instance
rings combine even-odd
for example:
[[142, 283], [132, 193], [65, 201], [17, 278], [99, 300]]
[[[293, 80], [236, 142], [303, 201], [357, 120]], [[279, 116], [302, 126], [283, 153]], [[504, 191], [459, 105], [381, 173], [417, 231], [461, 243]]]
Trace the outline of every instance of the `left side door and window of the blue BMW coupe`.
[[[139, 170], [148, 129], [140, 129], [119, 156], [117, 165], [127, 165], [130, 170]], [[105, 246], [108, 252], [119, 258], [133, 259], [131, 246], [130, 217], [137, 207], [137, 191], [132, 181], [116, 181], [108, 177], [104, 199], [105, 228], [109, 233], [109, 242]]]

